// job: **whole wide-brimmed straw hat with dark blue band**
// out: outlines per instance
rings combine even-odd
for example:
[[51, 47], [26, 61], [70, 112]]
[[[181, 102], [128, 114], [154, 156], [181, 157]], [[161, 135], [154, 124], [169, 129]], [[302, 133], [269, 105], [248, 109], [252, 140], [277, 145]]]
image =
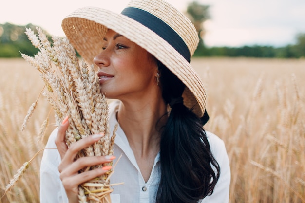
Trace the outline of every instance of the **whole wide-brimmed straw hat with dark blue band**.
[[206, 90], [190, 65], [198, 45], [198, 34], [191, 21], [163, 0], [131, 0], [120, 13], [85, 7], [62, 21], [70, 43], [89, 63], [102, 51], [108, 29], [146, 49], [172, 71], [185, 85], [184, 105], [199, 117], [206, 106]]

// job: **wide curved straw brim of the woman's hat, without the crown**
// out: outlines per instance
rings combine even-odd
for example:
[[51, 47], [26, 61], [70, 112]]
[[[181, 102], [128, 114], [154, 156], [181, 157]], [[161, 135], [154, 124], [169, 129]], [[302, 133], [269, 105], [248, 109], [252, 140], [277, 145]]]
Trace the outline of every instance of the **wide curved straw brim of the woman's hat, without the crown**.
[[206, 105], [206, 91], [200, 77], [190, 63], [167, 41], [141, 23], [112, 11], [84, 7], [62, 21], [62, 28], [70, 43], [89, 63], [102, 51], [103, 37], [108, 29], [130, 39], [161, 61], [185, 85], [184, 105], [199, 117]]

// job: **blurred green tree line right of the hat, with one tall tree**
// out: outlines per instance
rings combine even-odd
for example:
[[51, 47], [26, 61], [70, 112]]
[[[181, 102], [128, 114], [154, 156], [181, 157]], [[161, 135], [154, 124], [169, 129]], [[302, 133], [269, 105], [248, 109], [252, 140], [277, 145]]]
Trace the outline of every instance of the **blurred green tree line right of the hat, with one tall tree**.
[[300, 58], [305, 57], [305, 33], [296, 36], [296, 44], [284, 47], [242, 46], [242, 47], [206, 47], [203, 23], [210, 19], [209, 5], [192, 1], [188, 4], [186, 15], [195, 25], [200, 39], [194, 56], [260, 57], [260, 58]]

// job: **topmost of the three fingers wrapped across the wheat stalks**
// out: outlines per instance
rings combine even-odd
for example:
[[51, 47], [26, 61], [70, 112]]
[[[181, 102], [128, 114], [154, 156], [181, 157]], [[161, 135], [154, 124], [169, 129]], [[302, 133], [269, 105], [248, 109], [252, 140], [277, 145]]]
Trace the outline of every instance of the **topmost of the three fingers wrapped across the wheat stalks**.
[[66, 150], [65, 156], [62, 158], [62, 162], [70, 165], [74, 161], [77, 153], [80, 150], [89, 147], [93, 143], [100, 140], [103, 136], [104, 136], [104, 134], [95, 134], [95, 135], [91, 135], [91, 136], [82, 138], [82, 139], [78, 140], [77, 142], [71, 144], [69, 149]]

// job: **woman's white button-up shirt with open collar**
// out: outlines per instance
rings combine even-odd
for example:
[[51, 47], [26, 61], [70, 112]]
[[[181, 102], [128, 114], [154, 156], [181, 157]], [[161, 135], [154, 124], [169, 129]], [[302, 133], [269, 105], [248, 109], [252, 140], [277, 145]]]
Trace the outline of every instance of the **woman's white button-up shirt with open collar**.
[[[109, 122], [111, 132], [117, 122], [115, 112], [118, 102], [110, 104]], [[206, 131], [211, 151], [220, 166], [220, 177], [211, 196], [204, 198], [199, 203], [229, 203], [230, 167], [229, 157], [224, 142], [215, 134]], [[46, 148], [56, 148], [55, 129], [47, 142]], [[155, 157], [149, 180], [145, 183], [139, 166], [136, 163], [133, 151], [128, 144], [125, 133], [119, 127], [116, 131], [114, 141], [114, 156], [117, 158], [122, 154], [117, 163], [111, 183], [124, 183], [114, 186], [111, 194], [112, 203], [154, 203], [158, 183], [159, 154]], [[57, 149], [45, 149], [40, 166], [40, 203], [68, 203], [65, 189], [60, 181], [58, 166], [60, 155]], [[115, 163], [115, 160], [114, 160]]]

